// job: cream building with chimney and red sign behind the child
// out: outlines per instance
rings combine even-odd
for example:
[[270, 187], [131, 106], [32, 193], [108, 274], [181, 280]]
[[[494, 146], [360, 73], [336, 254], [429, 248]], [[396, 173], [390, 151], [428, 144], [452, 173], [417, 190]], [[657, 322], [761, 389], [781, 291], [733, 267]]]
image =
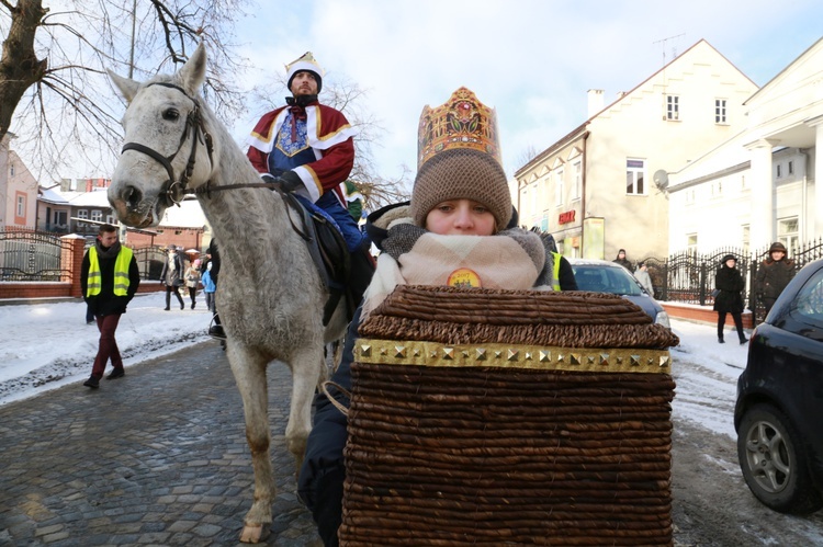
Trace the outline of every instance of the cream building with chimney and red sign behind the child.
[[666, 257], [667, 170], [740, 133], [756, 90], [701, 39], [606, 107], [589, 91], [589, 118], [515, 173], [520, 224], [567, 257]]

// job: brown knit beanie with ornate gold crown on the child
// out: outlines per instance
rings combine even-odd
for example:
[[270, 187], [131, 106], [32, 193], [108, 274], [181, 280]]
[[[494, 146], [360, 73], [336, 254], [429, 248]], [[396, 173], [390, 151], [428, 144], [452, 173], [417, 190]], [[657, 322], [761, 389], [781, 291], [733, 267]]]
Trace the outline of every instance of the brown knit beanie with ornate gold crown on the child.
[[495, 217], [497, 230], [511, 218], [495, 110], [466, 88], [436, 109], [424, 106], [420, 114], [410, 206], [415, 225], [425, 226], [429, 212], [449, 200], [482, 203]]

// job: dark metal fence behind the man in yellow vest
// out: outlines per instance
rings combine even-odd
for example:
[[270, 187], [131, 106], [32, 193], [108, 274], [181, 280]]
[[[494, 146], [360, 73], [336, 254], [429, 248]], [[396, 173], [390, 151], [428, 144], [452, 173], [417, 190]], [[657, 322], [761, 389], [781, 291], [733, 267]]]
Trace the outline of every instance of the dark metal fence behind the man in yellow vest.
[[[88, 249], [93, 239], [86, 242]], [[0, 281], [60, 281], [69, 246], [59, 236], [32, 230], [0, 230]], [[142, 280], [159, 280], [166, 252], [157, 246], [133, 249]]]

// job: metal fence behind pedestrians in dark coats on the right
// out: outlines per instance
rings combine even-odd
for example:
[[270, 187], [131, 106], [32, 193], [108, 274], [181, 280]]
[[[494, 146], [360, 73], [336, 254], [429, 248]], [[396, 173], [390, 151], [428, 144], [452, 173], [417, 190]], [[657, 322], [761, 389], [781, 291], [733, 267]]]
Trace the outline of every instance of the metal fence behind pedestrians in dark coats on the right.
[[[732, 254], [737, 259], [737, 270], [746, 281], [743, 300], [755, 314], [755, 321], [763, 320], [765, 308], [757, 301], [754, 286], [757, 270], [768, 257], [768, 248], [746, 251], [742, 248], [723, 247], [709, 253], [679, 252], [667, 259], [650, 257], [643, 260], [654, 285], [654, 296], [658, 300], [681, 301], [706, 306], [712, 304], [714, 275], [722, 265], [723, 257]], [[790, 249], [788, 258], [800, 270], [805, 264], [823, 258], [823, 238]]]

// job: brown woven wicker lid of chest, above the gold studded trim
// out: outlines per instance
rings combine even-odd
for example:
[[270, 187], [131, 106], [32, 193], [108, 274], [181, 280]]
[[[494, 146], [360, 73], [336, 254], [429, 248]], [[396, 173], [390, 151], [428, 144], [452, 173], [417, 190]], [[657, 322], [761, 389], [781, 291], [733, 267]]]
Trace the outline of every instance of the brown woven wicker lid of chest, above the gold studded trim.
[[679, 340], [617, 295], [399, 285], [360, 326], [362, 337], [446, 344], [665, 349]]

